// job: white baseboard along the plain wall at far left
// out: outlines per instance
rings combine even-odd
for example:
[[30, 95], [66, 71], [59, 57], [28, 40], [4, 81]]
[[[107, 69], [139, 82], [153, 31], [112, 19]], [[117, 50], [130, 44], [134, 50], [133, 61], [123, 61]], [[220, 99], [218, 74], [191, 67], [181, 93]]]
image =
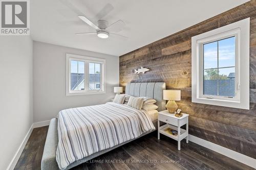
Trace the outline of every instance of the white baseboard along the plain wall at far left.
[[27, 141], [29, 140], [29, 137], [30, 137], [30, 135], [32, 133], [32, 130], [33, 130], [33, 124], [29, 128], [29, 131], [26, 134], [25, 138], [23, 139], [22, 144], [19, 145], [19, 148], [18, 148], [17, 152], [15, 153], [14, 157], [12, 158], [11, 163], [7, 167], [7, 170], [14, 169], [16, 163], [18, 162], [18, 159], [19, 159], [20, 155], [22, 155], [22, 151], [24, 150], [24, 148], [25, 148], [25, 146], [27, 144]]

